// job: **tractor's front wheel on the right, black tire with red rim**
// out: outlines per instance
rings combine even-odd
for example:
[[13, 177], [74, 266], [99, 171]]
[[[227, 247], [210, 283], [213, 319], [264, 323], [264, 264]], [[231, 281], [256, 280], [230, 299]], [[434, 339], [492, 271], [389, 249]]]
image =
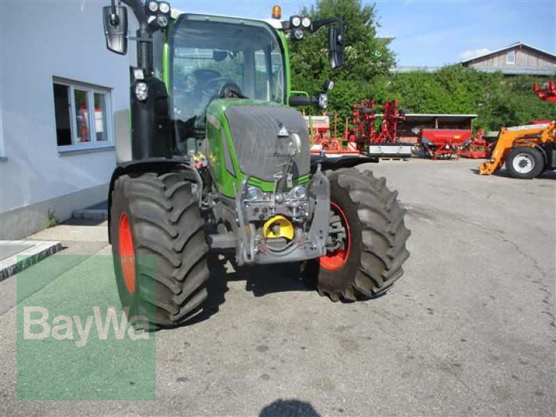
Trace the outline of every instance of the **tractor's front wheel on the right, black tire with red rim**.
[[[354, 168], [327, 172], [335, 229], [345, 229], [343, 247], [306, 265], [320, 295], [334, 302], [356, 301], [385, 293], [403, 275], [409, 257], [406, 211], [386, 179]], [[338, 222], [339, 220], [339, 222]]]

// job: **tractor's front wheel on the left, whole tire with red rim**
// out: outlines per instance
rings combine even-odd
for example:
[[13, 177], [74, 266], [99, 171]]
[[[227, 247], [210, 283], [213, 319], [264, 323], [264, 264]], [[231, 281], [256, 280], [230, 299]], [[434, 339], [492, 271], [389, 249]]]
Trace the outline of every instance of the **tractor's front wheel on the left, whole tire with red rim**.
[[208, 246], [187, 172], [122, 175], [111, 206], [116, 283], [131, 318], [174, 327], [206, 300]]

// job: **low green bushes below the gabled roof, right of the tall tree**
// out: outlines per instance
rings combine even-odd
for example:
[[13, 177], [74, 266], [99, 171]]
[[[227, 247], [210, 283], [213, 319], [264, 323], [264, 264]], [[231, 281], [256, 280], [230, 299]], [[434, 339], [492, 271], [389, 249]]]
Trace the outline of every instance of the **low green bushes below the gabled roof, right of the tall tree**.
[[[497, 131], [532, 120], [553, 120], [553, 103], [539, 100], [532, 76], [505, 77], [451, 65], [432, 74], [392, 74], [387, 99], [398, 99], [411, 113], [477, 114], [474, 126]], [[381, 92], [384, 94], [384, 92]]]

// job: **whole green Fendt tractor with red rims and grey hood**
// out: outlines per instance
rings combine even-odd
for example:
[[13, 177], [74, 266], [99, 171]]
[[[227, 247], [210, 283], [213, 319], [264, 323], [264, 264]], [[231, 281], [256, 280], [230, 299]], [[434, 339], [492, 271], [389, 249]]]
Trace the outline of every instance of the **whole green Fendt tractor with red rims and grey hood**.
[[103, 17], [117, 54], [127, 50], [128, 8], [138, 24], [131, 151], [108, 196], [128, 316], [150, 309], [152, 327], [173, 327], [202, 311], [211, 250], [231, 252], [240, 266], [299, 263], [332, 301], [375, 297], [401, 277], [410, 232], [398, 193], [354, 168], [377, 160], [311, 158], [309, 129], [292, 108], [325, 108], [327, 95], [293, 94], [288, 42], [329, 26], [329, 60], [339, 67], [339, 19], [281, 21], [275, 7], [259, 21], [122, 3]]

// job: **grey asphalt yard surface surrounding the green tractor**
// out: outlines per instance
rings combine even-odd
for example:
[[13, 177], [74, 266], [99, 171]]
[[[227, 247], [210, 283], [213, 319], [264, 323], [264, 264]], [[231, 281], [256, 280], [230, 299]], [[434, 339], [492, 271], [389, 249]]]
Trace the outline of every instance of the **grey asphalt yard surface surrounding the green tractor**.
[[[66, 249], [27, 270], [32, 285], [18, 276], [0, 283], [0, 414], [554, 416], [556, 173], [531, 181], [503, 171], [480, 177], [477, 161], [463, 159], [365, 167], [400, 191], [412, 231], [405, 275], [389, 293], [332, 303], [291, 266], [234, 271], [211, 256], [207, 314], [156, 333], [143, 356], [129, 343], [106, 354], [93, 346], [95, 366], [85, 375], [72, 376], [63, 364], [59, 374], [41, 374], [54, 359], [44, 359], [40, 345], [21, 352], [15, 305], [72, 300], [72, 309], [90, 310], [115, 302], [111, 262], [90, 261], [110, 257], [106, 224], [31, 236]], [[44, 343], [44, 352], [53, 345]], [[71, 355], [70, 347], [63, 352]], [[44, 391], [23, 384], [28, 370], [16, 359], [29, 355]], [[111, 372], [122, 355], [124, 370]], [[132, 378], [133, 370], [145, 373]], [[94, 401], [88, 385], [101, 371], [103, 383], [117, 387], [111, 401]], [[64, 385], [60, 375], [79, 382]], [[117, 400], [146, 393], [149, 375], [153, 399]], [[90, 400], [52, 400], [72, 395]]]

